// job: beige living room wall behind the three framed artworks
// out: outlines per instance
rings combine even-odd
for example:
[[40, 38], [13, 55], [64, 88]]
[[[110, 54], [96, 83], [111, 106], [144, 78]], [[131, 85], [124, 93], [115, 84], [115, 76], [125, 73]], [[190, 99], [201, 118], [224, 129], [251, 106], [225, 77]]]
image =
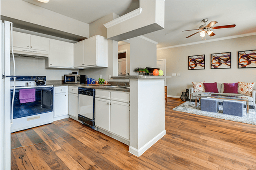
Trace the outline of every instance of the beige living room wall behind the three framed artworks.
[[[256, 82], [256, 68], [237, 68], [237, 52], [256, 49], [256, 35], [157, 50], [157, 59], [166, 59], [166, 74], [180, 73], [167, 79], [167, 94], [181, 96], [192, 81], [235, 83]], [[211, 69], [211, 54], [231, 52], [230, 69]], [[205, 54], [205, 70], [188, 70], [188, 56]], [[256, 86], [254, 86], [256, 89]]]

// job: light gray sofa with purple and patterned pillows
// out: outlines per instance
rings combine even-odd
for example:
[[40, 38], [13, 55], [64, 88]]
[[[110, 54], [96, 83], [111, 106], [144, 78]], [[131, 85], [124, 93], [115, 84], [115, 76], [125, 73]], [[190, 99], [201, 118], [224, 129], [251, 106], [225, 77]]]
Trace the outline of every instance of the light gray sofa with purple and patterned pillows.
[[[223, 93], [224, 91], [224, 84], [223, 83], [217, 83], [217, 88], [219, 91], [219, 95], [223, 96], [241, 96], [241, 97], [247, 97], [249, 99], [249, 105], [251, 105], [254, 109], [256, 109], [256, 90], [252, 90], [252, 97], [250, 96], [244, 96], [243, 94], [236, 94], [236, 93]], [[194, 92], [194, 88], [190, 87], [189, 88], [189, 99], [190, 101], [192, 99], [195, 99], [195, 96], [197, 96], [200, 93], [205, 93], [205, 92]], [[222, 101], [220, 101], [222, 102]], [[246, 102], [244, 102], [246, 104]]]

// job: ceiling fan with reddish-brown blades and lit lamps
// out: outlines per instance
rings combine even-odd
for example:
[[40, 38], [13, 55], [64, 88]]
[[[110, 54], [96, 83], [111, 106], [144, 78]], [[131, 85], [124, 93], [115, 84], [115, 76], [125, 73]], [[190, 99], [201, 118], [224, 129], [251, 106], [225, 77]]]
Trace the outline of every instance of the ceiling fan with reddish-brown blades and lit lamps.
[[[206, 22], [208, 21], [208, 18], [206, 19], [203, 19], [202, 22], [204, 22], [204, 25], [201, 25], [199, 27], [199, 29], [195, 29], [195, 30], [200, 30], [196, 33], [193, 33], [192, 35], [189, 35], [188, 37], [186, 38], [189, 38], [197, 33], [200, 33], [200, 36], [201, 37], [205, 37], [206, 33], [212, 37], [213, 35], [215, 35], [215, 33], [213, 33], [213, 31], [211, 31], [212, 29], [215, 30], [215, 29], [221, 29], [221, 28], [234, 28], [236, 25], [233, 24], [233, 25], [226, 25], [226, 26], [215, 26], [213, 27], [213, 25], [217, 24], [218, 22], [217, 21], [211, 21], [209, 24], [206, 24]], [[194, 30], [185, 30], [185, 31], [194, 31]], [[203, 39], [203, 38], [202, 38]], [[204, 38], [205, 40], [205, 38]]]

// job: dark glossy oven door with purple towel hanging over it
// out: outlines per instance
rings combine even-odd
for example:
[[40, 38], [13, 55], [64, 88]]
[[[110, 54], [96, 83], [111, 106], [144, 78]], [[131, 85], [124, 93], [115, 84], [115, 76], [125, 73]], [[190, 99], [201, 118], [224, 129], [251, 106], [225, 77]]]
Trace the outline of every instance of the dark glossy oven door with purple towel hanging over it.
[[[32, 89], [32, 88], [29, 88]], [[15, 90], [13, 119], [53, 111], [53, 87], [35, 88], [35, 102], [20, 103], [20, 89]], [[13, 89], [11, 89], [11, 100]]]

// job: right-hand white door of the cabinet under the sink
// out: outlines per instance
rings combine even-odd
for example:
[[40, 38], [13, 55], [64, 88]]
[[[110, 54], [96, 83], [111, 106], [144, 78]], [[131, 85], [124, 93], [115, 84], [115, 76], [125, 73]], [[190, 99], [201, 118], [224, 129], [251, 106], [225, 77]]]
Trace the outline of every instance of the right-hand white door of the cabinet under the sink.
[[129, 110], [129, 103], [111, 101], [110, 131], [125, 139], [130, 139]]

